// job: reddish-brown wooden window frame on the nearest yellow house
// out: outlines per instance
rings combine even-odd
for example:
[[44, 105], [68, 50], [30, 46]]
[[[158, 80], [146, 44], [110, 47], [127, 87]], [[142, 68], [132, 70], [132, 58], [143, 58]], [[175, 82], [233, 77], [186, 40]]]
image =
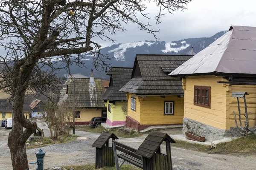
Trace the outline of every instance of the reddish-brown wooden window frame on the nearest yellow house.
[[[197, 89], [197, 91], [195, 91], [195, 89]], [[198, 90], [200, 90], [200, 95], [198, 95]], [[204, 96], [202, 95], [202, 90], [204, 90]], [[209, 94], [208, 96], [206, 96], [205, 91], [208, 90]], [[195, 94], [195, 92], [197, 92], [197, 94]], [[196, 98], [195, 98], [196, 96]], [[200, 96], [200, 103], [198, 103], [198, 96]], [[206, 104], [206, 99], [208, 98], [208, 105]], [[204, 99], [204, 103], [202, 103], [202, 99]], [[201, 106], [204, 108], [211, 108], [211, 87], [210, 86], [200, 86], [200, 85], [194, 85], [194, 105], [196, 106]]]

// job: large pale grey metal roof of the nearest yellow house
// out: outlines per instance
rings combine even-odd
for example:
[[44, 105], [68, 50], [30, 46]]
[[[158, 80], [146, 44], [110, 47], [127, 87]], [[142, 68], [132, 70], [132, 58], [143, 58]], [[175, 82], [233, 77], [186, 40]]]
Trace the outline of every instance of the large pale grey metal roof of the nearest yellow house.
[[169, 75], [256, 74], [255, 65], [256, 27], [231, 26], [226, 34]]

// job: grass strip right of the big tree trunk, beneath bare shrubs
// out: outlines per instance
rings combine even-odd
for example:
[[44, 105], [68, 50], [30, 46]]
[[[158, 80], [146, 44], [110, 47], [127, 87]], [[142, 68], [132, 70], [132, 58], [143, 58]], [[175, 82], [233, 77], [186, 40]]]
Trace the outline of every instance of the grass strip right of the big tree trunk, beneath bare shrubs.
[[[57, 140], [53, 140], [49, 137], [44, 137], [44, 139], [42, 141], [35, 140], [33, 142], [27, 142], [30, 145], [26, 146], [26, 149], [34, 149], [34, 148], [39, 148], [39, 147], [45, 147], [45, 146], [49, 146], [49, 145], [56, 144], [56, 143], [69, 143], [69, 142], [75, 141], [76, 137], [79, 137], [79, 135], [72, 135], [72, 136], [60, 135], [60, 136], [58, 136]], [[43, 142], [43, 144], [34, 145], [35, 142], [38, 142], [38, 143]]]

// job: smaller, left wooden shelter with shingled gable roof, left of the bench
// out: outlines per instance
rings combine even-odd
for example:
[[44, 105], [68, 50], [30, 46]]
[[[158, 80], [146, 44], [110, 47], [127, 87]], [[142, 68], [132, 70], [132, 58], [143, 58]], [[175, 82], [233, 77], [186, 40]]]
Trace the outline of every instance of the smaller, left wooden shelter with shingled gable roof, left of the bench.
[[96, 147], [96, 169], [115, 166], [114, 151], [112, 147], [109, 147], [112, 145], [112, 143], [109, 145], [110, 138], [112, 138], [112, 141], [118, 139], [113, 133], [103, 132], [92, 145]]

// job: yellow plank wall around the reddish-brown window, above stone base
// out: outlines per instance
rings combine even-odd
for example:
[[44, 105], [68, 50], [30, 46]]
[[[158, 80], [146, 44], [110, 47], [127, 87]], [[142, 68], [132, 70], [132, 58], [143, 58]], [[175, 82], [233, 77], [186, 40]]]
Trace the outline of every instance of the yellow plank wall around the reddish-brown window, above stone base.
[[[226, 87], [217, 81], [226, 79], [215, 76], [186, 77], [184, 117], [226, 129]], [[194, 85], [211, 87], [211, 108], [194, 105]]]

